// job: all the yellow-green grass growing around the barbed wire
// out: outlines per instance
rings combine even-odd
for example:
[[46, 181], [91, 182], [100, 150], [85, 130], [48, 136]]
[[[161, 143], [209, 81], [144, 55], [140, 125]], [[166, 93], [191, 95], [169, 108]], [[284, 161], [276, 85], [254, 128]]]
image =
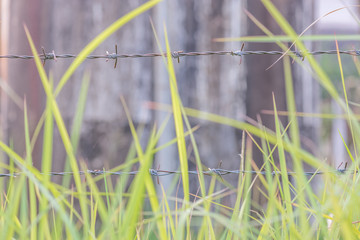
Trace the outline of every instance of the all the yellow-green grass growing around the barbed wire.
[[[177, 79], [171, 57], [170, 43], [167, 39], [164, 64], [169, 73], [169, 93], [171, 105], [154, 103], [159, 111], [169, 112], [169, 117], [152, 128], [147, 146], [140, 144], [142, 127], [135, 128], [131, 112], [122, 100], [132, 133], [132, 145], [126, 161], [111, 171], [130, 171], [138, 164], [139, 173], [130, 181], [128, 176], [119, 176], [114, 184], [109, 175], [93, 176], [86, 174], [82, 181], [79, 174], [64, 177], [61, 184], [51, 181], [51, 177], [41, 174], [32, 165], [32, 151], [43, 129], [43, 153], [41, 172], [52, 169], [53, 132], [59, 129], [62, 143], [67, 153], [65, 171], [86, 170], [83, 162], [76, 159], [83, 113], [90, 85], [90, 73], [86, 73], [79, 93], [79, 99], [71, 131], [65, 127], [63, 117], [56, 101], [70, 76], [101, 42], [121, 28], [126, 22], [150, 9], [159, 1], [149, 1], [136, 10], [120, 18], [109, 28], [91, 41], [74, 60], [53, 86], [51, 74], [47, 74], [39, 57], [35, 63], [47, 96], [44, 113], [36, 129], [30, 135], [26, 101], [24, 109], [24, 157], [12, 149], [11, 144], [0, 142], [0, 148], [9, 157], [9, 164], [1, 164], [10, 173], [22, 172], [18, 177], [5, 181], [0, 197], [0, 239], [358, 239], [360, 238], [359, 175], [352, 172], [359, 169], [358, 152], [360, 135], [358, 116], [349, 104], [347, 83], [344, 77], [342, 60], [338, 54], [337, 65], [341, 76], [342, 89], [334, 86], [322, 66], [312, 56], [306, 61], [311, 74], [322, 85], [324, 91], [343, 108], [341, 117], [347, 119], [351, 138], [343, 140], [352, 164], [349, 172], [334, 173], [334, 167], [323, 159], [301, 148], [298, 118], [306, 114], [297, 112], [291, 72], [291, 58], [283, 56], [277, 64], [284, 66], [287, 112], [289, 124], [283, 126], [279, 121], [276, 108], [276, 96], [273, 97], [275, 130], [266, 129], [259, 123], [252, 125], [213, 113], [185, 108], [179, 95]], [[286, 36], [274, 37], [254, 16], [250, 19], [264, 31], [268, 38], [247, 37], [241, 41], [274, 41], [287, 50], [283, 41], [296, 42], [297, 49], [306, 52], [303, 40], [329, 40], [329, 36], [299, 37], [270, 1], [263, 0], [264, 6], [283, 29]], [[25, 28], [34, 56], [31, 33]], [[155, 31], [155, 30], [154, 30]], [[156, 34], [155, 34], [156, 37]], [[157, 37], [156, 37], [157, 38]], [[354, 39], [357, 39], [355, 36]], [[338, 38], [340, 39], [340, 38]], [[343, 36], [350, 40], [351, 36]], [[229, 39], [219, 39], [227, 41]], [[234, 40], [234, 39], [230, 39]], [[159, 45], [160, 46], [160, 45]], [[160, 49], [161, 50], [161, 49]], [[162, 50], [161, 50], [162, 51]], [[299, 59], [295, 61], [301, 64]], [[339, 82], [339, 80], [336, 80]], [[19, 104], [19, 103], [17, 103]], [[139, 106], [140, 108], [140, 106]], [[315, 115], [309, 115], [315, 117]], [[316, 117], [335, 118], [331, 114], [319, 114]], [[196, 118], [216, 124], [226, 125], [243, 132], [239, 169], [242, 171], [264, 171], [265, 174], [239, 174], [237, 186], [232, 186], [220, 176], [205, 176], [207, 170], [202, 164], [194, 132], [198, 126], [192, 126], [189, 118]], [[158, 140], [170, 120], [174, 121], [176, 138], [158, 146]], [[254, 137], [259, 137], [256, 142]], [[197, 193], [190, 192], [186, 139], [190, 140], [198, 174]], [[160, 181], [160, 191], [156, 191], [156, 178], [149, 173], [153, 156], [158, 151], [175, 144], [178, 148], [178, 161], [181, 170], [180, 184], [183, 195], [167, 195]], [[353, 146], [353, 147], [352, 147]], [[253, 147], [263, 153], [264, 164], [260, 169], [252, 161]], [[274, 154], [276, 153], [276, 154]], [[275, 155], [277, 157], [275, 157]], [[291, 161], [291, 165], [289, 165]], [[304, 164], [317, 171], [325, 171], [319, 176], [305, 176]], [[289, 169], [292, 166], [293, 169]], [[294, 170], [291, 181], [287, 171]], [[276, 171], [276, 174], [273, 174]], [[209, 181], [206, 181], [206, 178]], [[310, 183], [317, 178], [319, 190], [312, 189]], [[255, 180], [263, 188], [257, 189]], [[70, 182], [75, 183], [74, 186]], [[101, 184], [98, 184], [101, 183]], [[176, 183], [174, 183], [176, 185]], [[99, 187], [103, 186], [103, 187]], [[218, 188], [220, 186], [220, 188]], [[175, 186], [176, 187], [176, 186]], [[259, 206], [254, 192], [260, 192], [267, 204]], [[224, 205], [222, 199], [233, 195], [233, 205]], [[190, 201], [190, 199], [193, 200]], [[175, 207], [174, 207], [175, 206]]]

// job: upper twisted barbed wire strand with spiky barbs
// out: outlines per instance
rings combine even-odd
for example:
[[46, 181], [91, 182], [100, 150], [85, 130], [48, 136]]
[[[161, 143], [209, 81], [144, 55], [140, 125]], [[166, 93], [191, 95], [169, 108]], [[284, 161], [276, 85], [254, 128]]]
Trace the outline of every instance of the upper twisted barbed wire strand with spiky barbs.
[[[55, 51], [46, 53], [44, 48], [42, 48], [42, 54], [39, 55], [39, 57], [44, 61], [46, 60], [57, 60], [60, 58], [76, 58], [78, 55], [76, 54], [55, 54]], [[299, 58], [304, 58], [308, 55], [331, 55], [331, 54], [347, 54], [352, 56], [360, 56], [360, 50], [327, 50], [327, 51], [309, 51], [309, 52], [301, 52], [301, 51], [244, 51], [243, 46], [241, 50], [236, 51], [203, 51], [203, 52], [183, 52], [183, 51], [173, 51], [171, 53], [172, 58], [177, 59], [178, 62], [180, 62], [181, 57], [190, 57], [190, 56], [211, 56], [211, 55], [230, 55], [230, 56], [238, 56], [243, 57], [247, 55], [292, 55]], [[167, 56], [166, 53], [144, 53], [144, 54], [118, 54], [117, 53], [117, 45], [115, 45], [115, 53], [109, 53], [106, 51], [106, 54], [104, 55], [88, 55], [87, 59], [106, 59], [108, 60], [115, 60], [116, 67], [117, 60], [118, 59], [124, 59], [124, 58], [149, 58], [149, 57], [160, 57], [160, 56]], [[29, 60], [33, 59], [34, 56], [32, 55], [0, 55], [1, 58], [6, 59], [24, 59]]]

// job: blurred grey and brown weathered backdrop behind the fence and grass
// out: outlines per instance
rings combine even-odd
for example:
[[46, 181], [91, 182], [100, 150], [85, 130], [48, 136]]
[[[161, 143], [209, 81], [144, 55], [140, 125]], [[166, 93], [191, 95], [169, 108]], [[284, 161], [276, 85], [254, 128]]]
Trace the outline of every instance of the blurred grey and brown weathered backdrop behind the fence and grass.
[[[1, 2], [1, 55], [31, 55], [24, 24], [29, 28], [38, 51], [55, 54], [77, 54], [97, 34], [146, 1], [140, 0], [32, 0]], [[284, 17], [297, 33], [301, 33], [316, 18], [336, 8], [358, 4], [358, 1], [337, 0], [274, 0]], [[273, 34], [283, 34], [260, 0], [172, 0], [163, 1], [152, 10], [135, 18], [116, 32], [94, 54], [152, 53], [159, 52], [151, 29], [154, 22], [163, 49], [166, 25], [172, 51], [236, 51], [242, 42], [215, 42], [214, 38], [264, 35], [247, 17], [246, 9], [264, 24]], [[307, 34], [355, 34], [359, 24], [356, 20], [359, 8], [334, 13], [311, 28]], [[335, 49], [334, 42], [306, 43], [311, 49]], [[340, 48], [351, 50], [353, 42], [341, 42]], [[276, 44], [245, 43], [244, 50], [281, 50]], [[266, 70], [279, 56], [251, 55], [182, 57], [175, 63], [176, 77], [184, 106], [205, 112], [216, 113], [240, 121], [261, 119], [273, 128], [274, 117], [264, 114], [272, 110], [274, 93], [279, 111], [286, 111], [284, 73], [282, 63]], [[335, 55], [321, 56], [319, 60], [329, 66], [334, 81], [337, 76]], [[54, 78], [55, 84], [71, 63], [71, 59], [46, 61], [45, 68]], [[344, 57], [349, 66], [352, 58]], [[45, 94], [35, 64], [29, 60], [0, 59], [1, 64], [1, 138], [11, 142], [16, 152], [24, 155], [23, 99], [26, 98], [31, 133], [34, 131], [45, 107]], [[306, 59], [304, 61], [306, 65]], [[344, 64], [345, 65], [345, 64]], [[341, 113], [331, 102], [311, 75], [298, 64], [293, 64], [293, 78], [296, 92], [297, 111], [306, 113]], [[335, 69], [335, 70], [334, 70]], [[85, 71], [90, 71], [91, 82], [86, 104], [78, 159], [84, 160], [89, 169], [118, 166], [128, 153], [132, 136], [120, 102], [124, 96], [130, 107], [131, 116], [137, 126], [144, 126], [142, 142], [146, 139], [154, 123], [161, 124], [168, 113], [147, 108], [147, 102], [170, 104], [168, 74], [161, 58], [119, 59], [114, 68], [113, 61], [86, 60], [67, 83], [57, 100], [61, 113], [70, 129], [78, 99], [81, 81]], [[352, 78], [353, 92], [358, 92], [355, 68], [346, 73]], [[340, 85], [339, 85], [340, 86]], [[354, 94], [356, 96], [356, 94]], [[359, 99], [360, 100], [360, 99]], [[354, 99], [356, 101], [356, 99]], [[283, 119], [286, 124], [286, 117]], [[322, 120], [320, 118], [299, 118], [302, 144], [312, 154], [336, 166], [346, 159], [343, 144], [339, 142], [337, 131], [346, 138], [346, 122], [342, 119]], [[175, 137], [173, 120], [167, 124], [159, 145]], [[242, 132], [218, 124], [191, 119], [192, 126], [199, 125], [195, 137], [202, 162], [216, 168], [220, 161], [224, 169], [236, 170], [240, 166]], [[333, 137], [336, 135], [336, 137]], [[42, 136], [40, 134], [40, 136]], [[66, 153], [58, 133], [55, 133], [53, 170], [62, 171]], [[41, 164], [41, 137], [34, 150], [34, 164]], [[340, 139], [341, 141], [341, 139]], [[189, 145], [189, 168], [195, 170], [194, 158]], [[263, 157], [254, 147], [254, 161], [261, 166]], [[291, 165], [290, 165], [291, 166]], [[178, 169], [176, 145], [169, 146], [155, 155], [154, 168]], [[238, 176], [226, 176], [226, 180], [236, 182]], [[170, 177], [162, 177], [165, 188]], [[197, 177], [193, 179], [194, 189]], [[193, 190], [194, 190], [193, 189]]]

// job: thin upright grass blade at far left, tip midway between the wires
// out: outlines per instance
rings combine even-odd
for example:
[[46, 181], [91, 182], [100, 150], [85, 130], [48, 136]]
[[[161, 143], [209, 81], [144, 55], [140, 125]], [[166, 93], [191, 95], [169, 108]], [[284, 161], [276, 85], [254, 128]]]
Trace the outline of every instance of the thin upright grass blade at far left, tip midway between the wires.
[[[29, 166], [32, 166], [32, 150], [31, 150], [31, 144], [30, 144], [30, 133], [29, 133], [29, 123], [28, 123], [28, 117], [27, 117], [27, 106], [26, 106], [26, 100], [24, 102], [24, 131], [25, 131], [25, 146], [26, 146], [26, 163]], [[36, 221], [37, 216], [37, 202], [36, 202], [36, 196], [35, 196], [35, 186], [34, 184], [29, 181], [29, 203], [28, 207], [30, 208], [30, 217], [29, 220], [31, 223]], [[25, 195], [25, 198], [27, 196]], [[30, 239], [36, 240], [37, 239], [37, 224], [33, 225], [33, 228], [30, 229]]]

